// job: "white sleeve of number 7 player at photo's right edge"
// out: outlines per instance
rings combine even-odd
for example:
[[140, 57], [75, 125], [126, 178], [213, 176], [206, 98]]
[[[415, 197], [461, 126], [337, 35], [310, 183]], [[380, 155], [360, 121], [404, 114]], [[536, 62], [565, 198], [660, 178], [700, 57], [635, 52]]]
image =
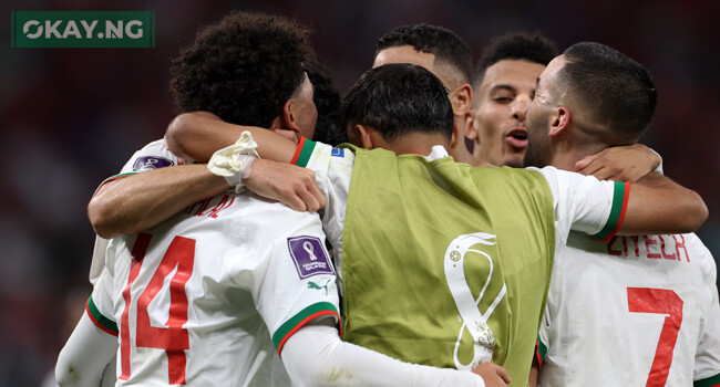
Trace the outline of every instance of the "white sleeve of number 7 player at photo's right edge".
[[696, 262], [704, 262], [703, 287], [706, 290], [706, 318], [698, 351], [695, 357], [695, 386], [720, 386], [720, 301], [718, 300], [717, 266], [714, 259], [708, 248], [700, 242], [699, 238], [688, 238], [697, 247], [693, 251], [702, 252], [706, 257]]

